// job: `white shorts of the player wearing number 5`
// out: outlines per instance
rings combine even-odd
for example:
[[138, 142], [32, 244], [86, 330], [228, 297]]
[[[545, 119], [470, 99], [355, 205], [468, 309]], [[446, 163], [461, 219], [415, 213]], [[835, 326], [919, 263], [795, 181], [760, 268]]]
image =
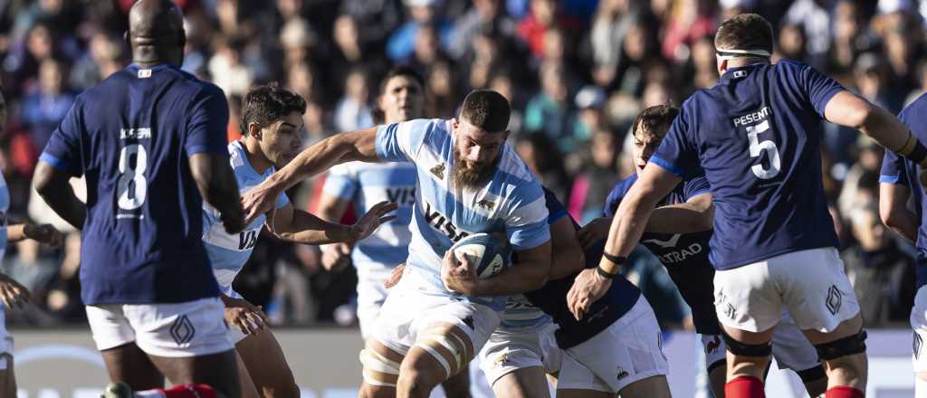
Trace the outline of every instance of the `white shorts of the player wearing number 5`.
[[779, 323], [782, 307], [801, 330], [830, 332], [859, 314], [857, 295], [832, 247], [776, 255], [715, 272], [717, 319], [759, 332]]

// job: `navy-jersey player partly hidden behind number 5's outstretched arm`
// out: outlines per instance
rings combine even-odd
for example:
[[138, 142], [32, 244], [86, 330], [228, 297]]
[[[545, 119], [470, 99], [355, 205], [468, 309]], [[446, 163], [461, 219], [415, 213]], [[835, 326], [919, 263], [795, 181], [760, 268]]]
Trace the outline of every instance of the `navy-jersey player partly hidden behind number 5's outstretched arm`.
[[[618, 182], [609, 193], [605, 201], [605, 217], [596, 218], [579, 231], [583, 246], [588, 247], [608, 236], [608, 227], [621, 199], [637, 180], [638, 174], [643, 172], [677, 115], [679, 108], [673, 106], [651, 106], [638, 115], [632, 132], [637, 173]], [[695, 331], [702, 335], [705, 367], [712, 392], [716, 397], [724, 397], [725, 348], [712, 294], [715, 268], [708, 261], [714, 208], [705, 176], [684, 180], [660, 201], [660, 205], [665, 207], [650, 218], [641, 244], [667, 267], [669, 277], [692, 308]], [[679, 207], [674, 209], [666, 205]], [[665, 229], [664, 233], [654, 232], [654, 229], [660, 228]], [[827, 377], [819, 364], [818, 353], [801, 330], [794, 327], [791, 317], [783, 317], [776, 327], [772, 336], [772, 354], [781, 368], [793, 369], [798, 374], [810, 396], [818, 396], [826, 390]]]

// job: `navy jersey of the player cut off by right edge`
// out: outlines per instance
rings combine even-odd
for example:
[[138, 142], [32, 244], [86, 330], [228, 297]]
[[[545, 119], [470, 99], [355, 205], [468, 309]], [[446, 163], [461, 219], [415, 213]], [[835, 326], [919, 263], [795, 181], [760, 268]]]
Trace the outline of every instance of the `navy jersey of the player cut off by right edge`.
[[[905, 126], [918, 138], [921, 143], [927, 143], [927, 95], [921, 95], [904, 110], [898, 114]], [[918, 228], [917, 242], [917, 261], [918, 266], [915, 268], [917, 274], [917, 288], [927, 284], [927, 224], [924, 223], [924, 210], [927, 210], [927, 200], [924, 196], [924, 187], [918, 181], [918, 166], [914, 162], [895, 154], [892, 151], [885, 151], [885, 157], [882, 161], [882, 175], [879, 182], [902, 184], [908, 187], [913, 196], [914, 211], [918, 216], [920, 227]]]

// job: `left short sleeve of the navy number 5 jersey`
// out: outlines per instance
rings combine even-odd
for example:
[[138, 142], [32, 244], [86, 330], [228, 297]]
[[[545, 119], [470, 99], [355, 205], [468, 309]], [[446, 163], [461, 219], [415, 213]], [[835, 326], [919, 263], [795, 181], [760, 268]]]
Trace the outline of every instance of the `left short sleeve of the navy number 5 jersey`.
[[[687, 102], [688, 103], [688, 102]], [[689, 123], [687, 106], [682, 106], [679, 116], [673, 119], [667, 137], [656, 148], [654, 155], [650, 156], [650, 163], [667, 169], [667, 171], [686, 178], [701, 171], [698, 163], [698, 153], [695, 145], [690, 141], [695, 131]]]

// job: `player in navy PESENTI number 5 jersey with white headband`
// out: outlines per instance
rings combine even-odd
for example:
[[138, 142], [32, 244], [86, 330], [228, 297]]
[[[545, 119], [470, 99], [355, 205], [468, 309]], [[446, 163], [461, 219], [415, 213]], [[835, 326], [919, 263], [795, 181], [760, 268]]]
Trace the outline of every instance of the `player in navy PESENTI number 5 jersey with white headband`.
[[571, 311], [587, 313], [640, 241], [654, 206], [704, 171], [717, 216], [710, 260], [728, 350], [725, 396], [764, 395], [769, 341], [784, 306], [826, 364], [826, 395], [861, 397], [866, 333], [821, 186], [821, 119], [918, 163], [927, 148], [893, 115], [814, 68], [771, 64], [772, 29], [756, 14], [722, 22], [715, 46], [721, 78], [683, 104], [618, 206], [599, 267], [583, 271], [570, 291]]

